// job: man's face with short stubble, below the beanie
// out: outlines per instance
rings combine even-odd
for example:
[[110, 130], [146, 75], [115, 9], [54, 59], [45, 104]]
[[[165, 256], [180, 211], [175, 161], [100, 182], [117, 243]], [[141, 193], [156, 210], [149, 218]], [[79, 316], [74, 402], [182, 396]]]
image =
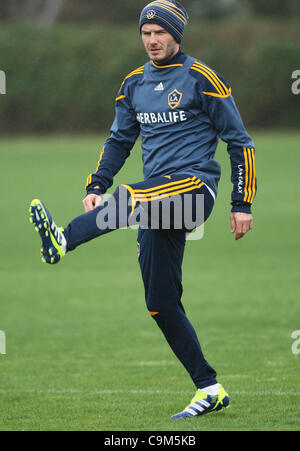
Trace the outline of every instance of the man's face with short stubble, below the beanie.
[[174, 37], [159, 25], [144, 24], [142, 40], [149, 58], [157, 64], [172, 58], [179, 50]]

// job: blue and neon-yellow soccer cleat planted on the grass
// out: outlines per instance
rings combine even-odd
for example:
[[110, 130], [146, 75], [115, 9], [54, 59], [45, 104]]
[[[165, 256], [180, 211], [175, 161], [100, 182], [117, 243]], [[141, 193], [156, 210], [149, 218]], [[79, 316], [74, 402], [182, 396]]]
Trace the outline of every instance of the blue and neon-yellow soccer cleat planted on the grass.
[[191, 403], [180, 413], [173, 415], [172, 418], [193, 418], [199, 417], [206, 413], [219, 411], [229, 406], [229, 396], [219, 384], [219, 393], [217, 395], [208, 395], [207, 393], [197, 390], [196, 395]]

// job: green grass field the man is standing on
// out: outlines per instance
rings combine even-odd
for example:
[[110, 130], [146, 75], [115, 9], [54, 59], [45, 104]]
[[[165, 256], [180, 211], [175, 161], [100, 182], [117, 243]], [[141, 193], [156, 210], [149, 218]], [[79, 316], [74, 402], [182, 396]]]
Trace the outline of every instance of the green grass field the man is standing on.
[[[183, 303], [231, 408], [186, 421], [194, 386], [146, 311], [136, 231], [88, 243], [50, 267], [28, 207], [60, 225], [82, 213], [103, 137], [0, 140], [0, 430], [300, 430], [300, 134], [252, 133], [255, 227], [235, 242], [229, 158], [200, 241], [188, 242]], [[116, 183], [142, 178], [140, 149]]]

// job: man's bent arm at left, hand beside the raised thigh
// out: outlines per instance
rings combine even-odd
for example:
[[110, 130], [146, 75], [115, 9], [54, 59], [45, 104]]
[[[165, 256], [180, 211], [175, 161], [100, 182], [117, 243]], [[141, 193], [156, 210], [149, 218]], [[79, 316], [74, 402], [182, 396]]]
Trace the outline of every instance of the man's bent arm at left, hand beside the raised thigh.
[[110, 138], [101, 149], [96, 171], [87, 178], [87, 196], [83, 200], [86, 211], [101, 203], [101, 195], [112, 186], [114, 176], [130, 155], [139, 133], [139, 123], [126, 92], [126, 85], [122, 85], [116, 99], [116, 113]]

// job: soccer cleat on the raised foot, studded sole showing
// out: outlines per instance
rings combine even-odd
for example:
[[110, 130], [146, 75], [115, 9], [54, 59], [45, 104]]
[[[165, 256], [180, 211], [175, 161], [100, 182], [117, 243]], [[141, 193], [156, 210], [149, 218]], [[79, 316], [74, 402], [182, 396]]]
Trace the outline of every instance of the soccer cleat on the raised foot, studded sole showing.
[[29, 214], [29, 221], [34, 225], [42, 240], [42, 262], [51, 265], [58, 263], [66, 254], [63, 228], [55, 225], [49, 211], [39, 199], [31, 202]]

